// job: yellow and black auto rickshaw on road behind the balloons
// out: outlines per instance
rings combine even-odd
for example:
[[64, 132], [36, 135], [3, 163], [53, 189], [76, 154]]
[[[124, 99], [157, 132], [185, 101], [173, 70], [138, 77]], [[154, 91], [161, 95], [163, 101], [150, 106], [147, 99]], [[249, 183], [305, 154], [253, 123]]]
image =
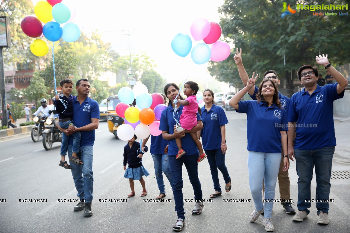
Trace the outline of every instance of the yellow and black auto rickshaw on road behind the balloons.
[[118, 95], [110, 96], [107, 98], [107, 124], [108, 129], [111, 133], [114, 134], [116, 139], [119, 139], [117, 136], [117, 129], [119, 125], [124, 124], [124, 118], [116, 114], [116, 106], [121, 101], [118, 98]]

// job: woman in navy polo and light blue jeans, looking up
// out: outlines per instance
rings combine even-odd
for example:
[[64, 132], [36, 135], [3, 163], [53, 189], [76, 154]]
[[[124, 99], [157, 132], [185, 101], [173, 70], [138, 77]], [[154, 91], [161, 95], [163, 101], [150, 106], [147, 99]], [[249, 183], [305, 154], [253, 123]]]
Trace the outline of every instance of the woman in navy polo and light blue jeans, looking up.
[[[253, 197], [254, 211], [249, 220], [256, 221], [264, 212], [263, 225], [266, 231], [274, 231], [271, 223], [273, 200], [278, 170], [283, 152], [283, 171], [288, 170], [287, 155], [288, 122], [286, 110], [281, 107], [278, 90], [270, 79], [263, 80], [259, 85], [257, 100], [240, 101], [240, 99], [255, 85], [253, 77], [247, 86], [232, 97], [229, 104], [237, 112], [247, 114], [248, 139], [248, 173], [249, 187]], [[265, 206], [262, 202], [262, 182], [265, 182]]]

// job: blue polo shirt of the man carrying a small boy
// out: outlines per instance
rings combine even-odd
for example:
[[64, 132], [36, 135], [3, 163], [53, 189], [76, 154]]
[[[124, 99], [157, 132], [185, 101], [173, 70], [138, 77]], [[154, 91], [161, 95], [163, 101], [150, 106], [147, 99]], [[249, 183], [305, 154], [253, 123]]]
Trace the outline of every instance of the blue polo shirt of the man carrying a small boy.
[[[100, 108], [97, 101], [86, 97], [84, 102], [80, 105], [77, 99], [73, 99], [73, 123], [75, 126], [83, 127], [91, 123], [91, 118], [100, 119]], [[95, 141], [95, 130], [80, 131], [82, 139], [80, 146], [92, 145]], [[69, 137], [69, 144], [73, 145], [73, 137]]]

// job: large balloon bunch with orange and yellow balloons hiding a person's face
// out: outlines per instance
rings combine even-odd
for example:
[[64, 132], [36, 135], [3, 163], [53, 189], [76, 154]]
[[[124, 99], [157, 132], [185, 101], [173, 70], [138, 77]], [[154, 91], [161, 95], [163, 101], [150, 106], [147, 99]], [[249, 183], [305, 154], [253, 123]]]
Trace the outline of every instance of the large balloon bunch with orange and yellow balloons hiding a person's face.
[[[117, 136], [121, 140], [130, 140], [134, 134], [138, 138], [148, 138], [149, 134], [158, 136], [162, 111], [167, 108], [160, 93], [148, 93], [144, 84], [137, 84], [133, 89], [122, 87], [118, 92], [120, 103], [116, 106], [118, 116], [125, 118], [124, 123], [118, 127]], [[130, 106], [136, 101], [135, 106]]]

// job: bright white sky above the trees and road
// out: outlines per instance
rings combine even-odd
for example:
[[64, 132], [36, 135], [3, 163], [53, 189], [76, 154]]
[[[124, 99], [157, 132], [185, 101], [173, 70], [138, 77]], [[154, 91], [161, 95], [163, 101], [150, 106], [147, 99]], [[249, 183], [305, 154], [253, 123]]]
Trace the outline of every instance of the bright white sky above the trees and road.
[[[33, 4], [38, 0], [33, 0]], [[177, 1], [110, 1], [110, 0], [63, 0], [76, 10], [76, 23], [82, 31], [89, 33], [98, 30], [105, 42], [120, 55], [145, 52], [156, 64], [155, 70], [168, 82], [182, 80], [214, 80], [208, 71], [207, 63], [195, 64], [190, 54], [182, 58], [171, 48], [171, 41], [178, 33], [190, 34], [190, 26], [197, 18], [219, 23], [218, 7], [224, 0], [177, 0]], [[124, 32], [123, 32], [124, 29]], [[127, 31], [129, 31], [127, 33]], [[203, 41], [194, 41], [193, 47]], [[232, 48], [231, 48], [232, 49]], [[204, 85], [205, 86], [205, 85]], [[207, 87], [207, 86], [205, 86]], [[223, 89], [229, 88], [223, 85]], [[224, 90], [225, 91], [225, 90]]]

